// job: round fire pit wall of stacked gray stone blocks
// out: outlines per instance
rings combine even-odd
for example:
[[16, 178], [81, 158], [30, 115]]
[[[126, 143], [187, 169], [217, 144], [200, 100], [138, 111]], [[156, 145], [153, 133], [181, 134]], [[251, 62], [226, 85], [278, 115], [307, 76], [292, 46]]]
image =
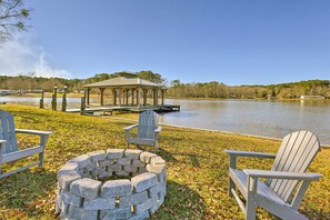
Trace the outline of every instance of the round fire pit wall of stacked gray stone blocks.
[[56, 212], [62, 219], [146, 219], [163, 203], [166, 193], [162, 158], [108, 149], [79, 156], [60, 169]]

